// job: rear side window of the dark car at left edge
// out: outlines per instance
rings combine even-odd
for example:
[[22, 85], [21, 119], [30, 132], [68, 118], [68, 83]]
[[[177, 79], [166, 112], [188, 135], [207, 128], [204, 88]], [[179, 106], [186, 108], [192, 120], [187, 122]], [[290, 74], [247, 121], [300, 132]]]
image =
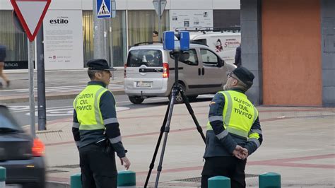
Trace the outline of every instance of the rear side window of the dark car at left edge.
[[7, 107], [0, 105], [0, 133], [23, 131]]

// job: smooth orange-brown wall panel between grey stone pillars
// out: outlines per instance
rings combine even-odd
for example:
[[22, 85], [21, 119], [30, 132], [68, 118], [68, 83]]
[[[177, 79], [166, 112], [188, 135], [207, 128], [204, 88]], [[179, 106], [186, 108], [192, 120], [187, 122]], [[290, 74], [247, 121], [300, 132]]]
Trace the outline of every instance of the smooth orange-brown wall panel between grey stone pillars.
[[322, 105], [319, 0], [262, 1], [264, 105]]

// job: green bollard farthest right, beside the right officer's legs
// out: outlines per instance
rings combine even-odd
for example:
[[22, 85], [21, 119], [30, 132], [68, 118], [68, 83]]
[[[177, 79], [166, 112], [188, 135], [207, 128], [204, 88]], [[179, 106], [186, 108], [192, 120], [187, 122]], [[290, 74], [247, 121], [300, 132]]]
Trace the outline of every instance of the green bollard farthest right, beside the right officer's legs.
[[259, 175], [259, 188], [281, 188], [281, 175], [276, 172], [267, 172]]

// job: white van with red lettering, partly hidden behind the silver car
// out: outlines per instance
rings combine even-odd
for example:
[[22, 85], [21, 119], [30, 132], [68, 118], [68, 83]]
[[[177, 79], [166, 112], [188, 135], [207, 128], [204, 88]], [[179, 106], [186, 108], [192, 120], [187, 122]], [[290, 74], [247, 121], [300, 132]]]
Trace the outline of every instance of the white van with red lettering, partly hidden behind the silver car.
[[216, 52], [228, 64], [235, 63], [236, 48], [241, 43], [241, 33], [190, 32], [189, 39], [201, 42]]

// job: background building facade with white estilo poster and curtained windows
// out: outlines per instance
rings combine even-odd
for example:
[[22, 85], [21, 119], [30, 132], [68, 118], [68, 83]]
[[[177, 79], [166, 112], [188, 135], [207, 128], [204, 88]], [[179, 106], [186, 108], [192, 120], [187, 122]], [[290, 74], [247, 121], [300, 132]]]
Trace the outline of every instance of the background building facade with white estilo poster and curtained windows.
[[[116, 17], [105, 19], [105, 50], [113, 66], [123, 66], [127, 50], [152, 41], [158, 16], [151, 0], [117, 0]], [[45, 69], [83, 69], [93, 58], [93, 1], [52, 1], [43, 20]], [[27, 37], [13, 24], [10, 1], [0, 0], [0, 43], [7, 46], [5, 69], [28, 69]], [[240, 1], [167, 0], [162, 30], [240, 25]]]

